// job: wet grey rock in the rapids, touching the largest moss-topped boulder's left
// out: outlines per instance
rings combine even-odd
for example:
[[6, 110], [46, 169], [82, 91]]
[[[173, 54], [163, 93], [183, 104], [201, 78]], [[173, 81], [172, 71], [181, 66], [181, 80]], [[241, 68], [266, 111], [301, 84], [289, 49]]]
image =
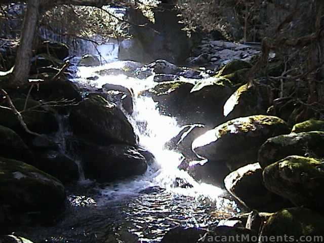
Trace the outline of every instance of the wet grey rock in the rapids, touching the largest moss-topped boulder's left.
[[206, 129], [202, 124], [185, 125], [175, 137], [165, 144], [165, 147], [181, 152], [189, 160], [196, 160], [198, 157], [192, 151], [191, 144], [204, 132]]

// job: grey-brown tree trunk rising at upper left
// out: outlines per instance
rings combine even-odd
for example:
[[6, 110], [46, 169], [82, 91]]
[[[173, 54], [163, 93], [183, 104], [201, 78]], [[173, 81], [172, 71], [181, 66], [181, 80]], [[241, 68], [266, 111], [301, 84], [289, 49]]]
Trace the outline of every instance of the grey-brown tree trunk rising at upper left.
[[24, 18], [14, 68], [15, 86], [18, 87], [23, 86], [28, 81], [32, 58], [32, 44], [37, 28], [40, 2], [41, 0], [28, 0], [27, 2], [27, 12]]

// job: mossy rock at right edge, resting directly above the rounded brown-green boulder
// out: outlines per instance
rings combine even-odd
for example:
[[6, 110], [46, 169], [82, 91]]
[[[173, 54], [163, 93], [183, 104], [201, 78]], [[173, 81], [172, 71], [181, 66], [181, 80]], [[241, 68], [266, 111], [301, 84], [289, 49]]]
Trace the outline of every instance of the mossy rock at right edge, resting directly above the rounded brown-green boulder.
[[324, 132], [292, 133], [269, 138], [260, 147], [258, 161], [265, 168], [290, 155], [324, 157]]

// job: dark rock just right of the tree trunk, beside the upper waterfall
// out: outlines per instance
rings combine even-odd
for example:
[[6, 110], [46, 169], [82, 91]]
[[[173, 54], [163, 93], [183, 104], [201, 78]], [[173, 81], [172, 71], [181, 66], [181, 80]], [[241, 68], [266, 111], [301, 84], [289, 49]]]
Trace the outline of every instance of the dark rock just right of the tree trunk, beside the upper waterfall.
[[69, 56], [69, 48], [59, 42], [44, 41], [37, 46], [36, 54], [48, 53], [51, 56], [64, 60]]

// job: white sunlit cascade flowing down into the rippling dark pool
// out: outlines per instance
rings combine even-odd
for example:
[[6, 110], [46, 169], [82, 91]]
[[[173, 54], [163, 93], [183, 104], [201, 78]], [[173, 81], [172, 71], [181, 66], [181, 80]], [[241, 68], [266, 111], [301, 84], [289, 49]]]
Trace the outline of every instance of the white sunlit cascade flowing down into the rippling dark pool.
[[[182, 155], [164, 148], [180, 127], [175, 118], [161, 115], [151, 98], [137, 95], [154, 85], [153, 77], [98, 74], [109, 68], [123, 68], [123, 62], [79, 67], [73, 81], [88, 90], [110, 83], [134, 91], [134, 112], [128, 118], [139, 144], [154, 154], [154, 163], [144, 175], [114, 183], [99, 184], [82, 177], [67, 187], [67, 210], [54, 225], [24, 227], [21, 232], [34, 242], [128, 243], [133, 242], [133, 234], [141, 242], [159, 242], [175, 226], [212, 228], [219, 219], [237, 214], [236, 204], [221, 188], [198, 183], [178, 170]], [[94, 75], [99, 78], [87, 79]], [[58, 138], [64, 140], [66, 133], [68, 129], [61, 129]], [[176, 178], [193, 187], [175, 187]]]

